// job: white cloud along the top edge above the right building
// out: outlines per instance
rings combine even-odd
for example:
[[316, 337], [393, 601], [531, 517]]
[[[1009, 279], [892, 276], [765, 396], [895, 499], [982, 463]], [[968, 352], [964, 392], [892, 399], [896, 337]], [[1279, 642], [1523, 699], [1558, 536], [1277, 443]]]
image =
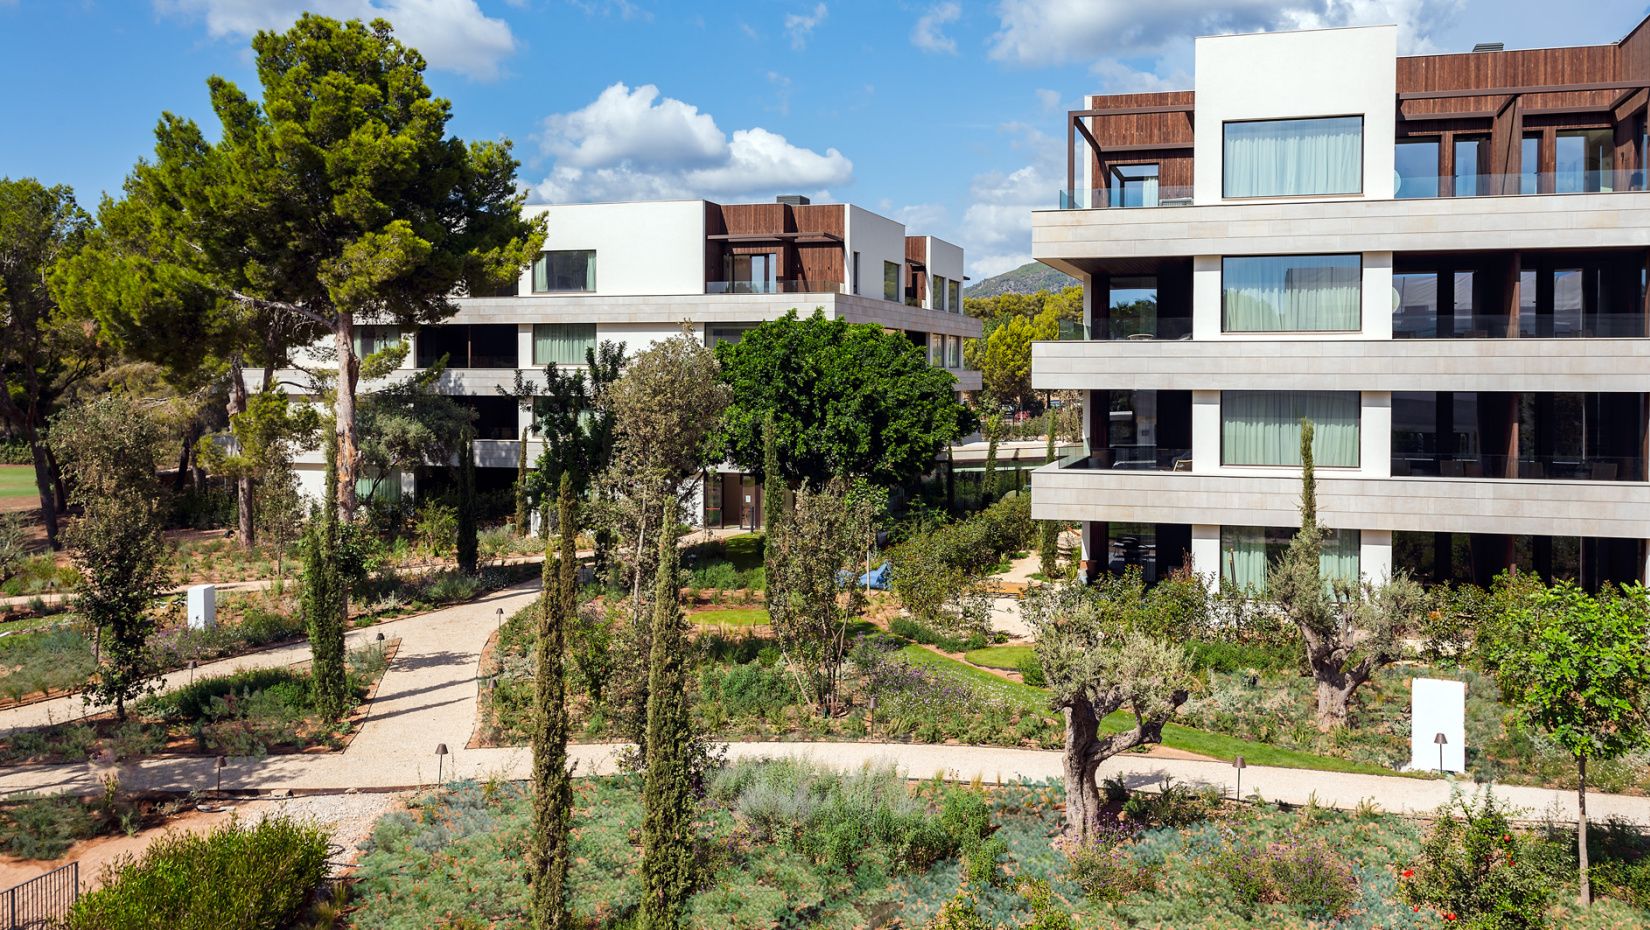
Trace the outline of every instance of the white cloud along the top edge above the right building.
[[1000, 0], [992, 58], [1064, 64], [1178, 51], [1193, 36], [1396, 23], [1399, 51], [1429, 51], [1465, 0]]

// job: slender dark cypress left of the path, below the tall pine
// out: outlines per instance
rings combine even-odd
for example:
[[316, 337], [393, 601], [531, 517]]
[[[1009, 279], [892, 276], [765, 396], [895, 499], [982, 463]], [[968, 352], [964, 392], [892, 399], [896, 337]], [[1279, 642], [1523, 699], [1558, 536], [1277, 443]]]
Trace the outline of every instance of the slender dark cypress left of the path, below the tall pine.
[[338, 566], [337, 447], [327, 444], [327, 483], [320, 513], [304, 533], [304, 625], [310, 638], [310, 689], [322, 719], [338, 722], [348, 704], [343, 673], [343, 627], [350, 592]]

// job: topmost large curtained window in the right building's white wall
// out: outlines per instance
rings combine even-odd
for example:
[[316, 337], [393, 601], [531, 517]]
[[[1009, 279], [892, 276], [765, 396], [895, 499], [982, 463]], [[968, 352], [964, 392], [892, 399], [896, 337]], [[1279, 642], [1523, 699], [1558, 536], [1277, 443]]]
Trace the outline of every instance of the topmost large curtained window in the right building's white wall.
[[1363, 117], [1228, 122], [1224, 142], [1224, 196], [1363, 190]]

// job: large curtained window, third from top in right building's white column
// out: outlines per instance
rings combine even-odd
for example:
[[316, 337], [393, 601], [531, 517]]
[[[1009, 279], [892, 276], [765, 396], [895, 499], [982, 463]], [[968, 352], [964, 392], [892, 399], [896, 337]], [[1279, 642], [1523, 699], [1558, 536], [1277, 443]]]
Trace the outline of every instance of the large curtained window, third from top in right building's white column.
[[1312, 420], [1312, 458], [1358, 467], [1356, 391], [1223, 391], [1221, 463], [1300, 465], [1300, 420]]

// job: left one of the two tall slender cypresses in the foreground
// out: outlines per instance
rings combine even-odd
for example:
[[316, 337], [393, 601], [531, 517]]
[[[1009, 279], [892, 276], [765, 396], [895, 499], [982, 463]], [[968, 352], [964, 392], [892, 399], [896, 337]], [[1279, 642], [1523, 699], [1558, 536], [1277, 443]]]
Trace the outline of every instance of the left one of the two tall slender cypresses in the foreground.
[[568, 773], [568, 625], [578, 610], [574, 582], [576, 523], [573, 478], [561, 475], [556, 495], [561, 523], [559, 552], [544, 552], [538, 623], [538, 679], [533, 714], [533, 928], [566, 930], [568, 914], [568, 828], [573, 820], [573, 777]]

